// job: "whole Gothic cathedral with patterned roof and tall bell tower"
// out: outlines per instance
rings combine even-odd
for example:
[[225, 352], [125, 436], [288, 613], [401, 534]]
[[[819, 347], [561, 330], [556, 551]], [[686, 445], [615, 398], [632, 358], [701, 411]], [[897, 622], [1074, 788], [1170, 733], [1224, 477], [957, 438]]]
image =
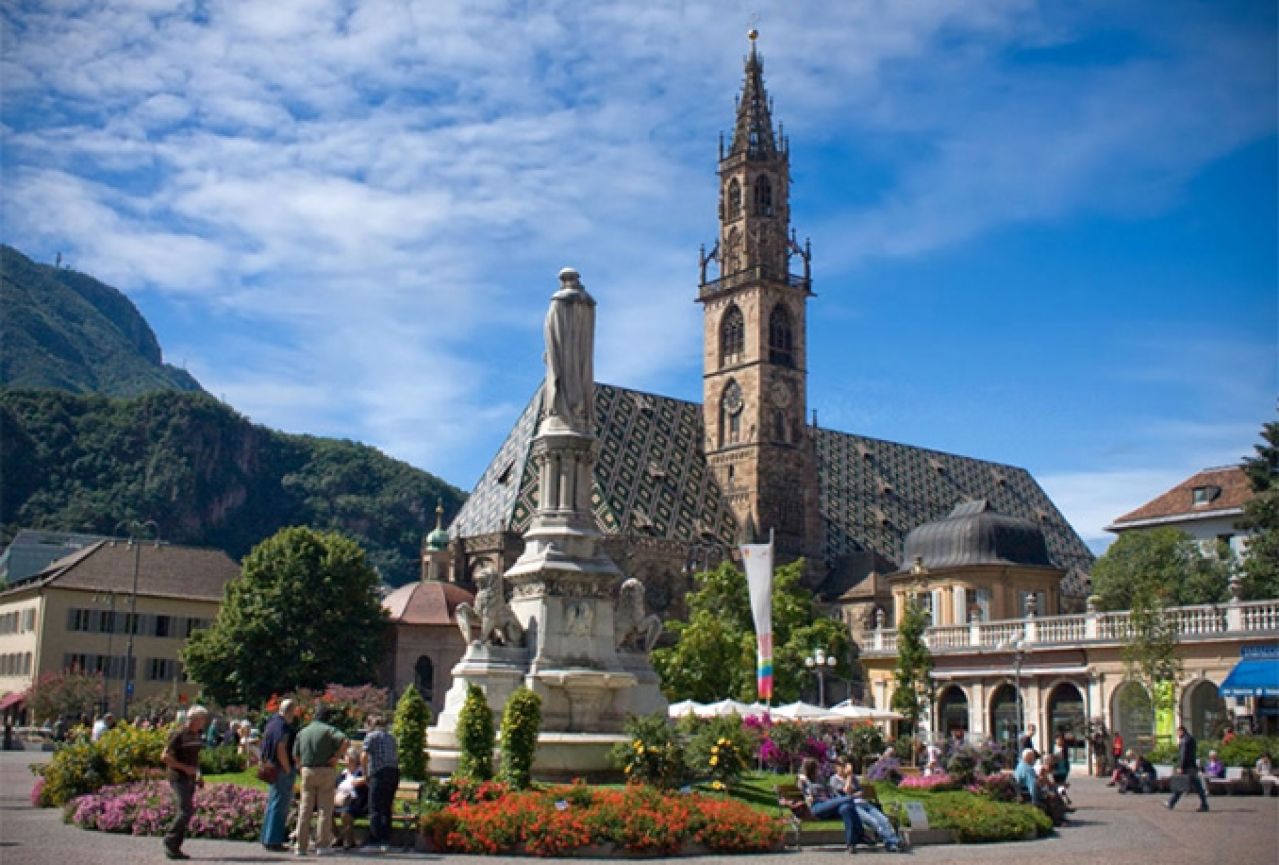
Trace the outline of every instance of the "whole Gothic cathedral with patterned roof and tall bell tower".
[[[807, 316], [817, 301], [811, 248], [790, 225], [789, 159], [752, 32], [720, 143], [719, 234], [700, 256], [702, 402], [596, 386], [591, 504], [609, 553], [643, 582], [650, 609], [680, 615], [694, 572], [771, 532], [779, 559], [803, 557], [807, 585], [857, 635], [881, 613], [894, 618], [893, 586], [900, 595], [912, 567], [907, 535], [963, 507], [1042, 534], [1059, 591], [1058, 609], [1040, 613], [1082, 609], [1092, 555], [1030, 472], [810, 421]], [[519, 557], [542, 415], [538, 388], [449, 527], [453, 581]]]

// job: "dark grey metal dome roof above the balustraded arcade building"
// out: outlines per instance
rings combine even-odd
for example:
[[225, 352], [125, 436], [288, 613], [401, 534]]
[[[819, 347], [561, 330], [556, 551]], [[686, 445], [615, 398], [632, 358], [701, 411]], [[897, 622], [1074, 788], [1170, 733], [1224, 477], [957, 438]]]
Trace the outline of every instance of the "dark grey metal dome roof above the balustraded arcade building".
[[902, 569], [911, 569], [916, 560], [930, 571], [972, 564], [1055, 567], [1042, 528], [996, 513], [985, 499], [962, 502], [943, 520], [913, 528], [906, 536]]

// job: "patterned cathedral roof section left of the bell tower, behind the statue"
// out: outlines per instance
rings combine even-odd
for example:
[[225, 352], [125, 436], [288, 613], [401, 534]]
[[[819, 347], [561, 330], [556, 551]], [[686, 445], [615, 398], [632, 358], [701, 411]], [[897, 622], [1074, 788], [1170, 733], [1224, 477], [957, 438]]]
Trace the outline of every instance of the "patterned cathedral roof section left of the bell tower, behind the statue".
[[[540, 389], [449, 527], [453, 537], [528, 528], [538, 484], [528, 452], [538, 422]], [[702, 454], [701, 406], [599, 384], [595, 434], [591, 504], [600, 531], [735, 541], [737, 521]]]

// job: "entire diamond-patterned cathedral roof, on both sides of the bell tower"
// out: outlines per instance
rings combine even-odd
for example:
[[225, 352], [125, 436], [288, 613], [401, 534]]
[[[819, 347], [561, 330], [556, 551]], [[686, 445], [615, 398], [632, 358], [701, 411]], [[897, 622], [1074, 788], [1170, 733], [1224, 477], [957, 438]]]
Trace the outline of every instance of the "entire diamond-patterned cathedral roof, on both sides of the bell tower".
[[[601, 384], [595, 415], [591, 502], [602, 532], [735, 543], [733, 512], [702, 453], [698, 403]], [[528, 528], [537, 502], [528, 452], [540, 421], [538, 389], [449, 527], [453, 537]], [[833, 430], [813, 435], [828, 566], [865, 554], [880, 571], [895, 567], [908, 531], [959, 502], [986, 499], [1042, 526], [1053, 562], [1067, 571], [1063, 591], [1087, 594], [1092, 554], [1024, 468]]]

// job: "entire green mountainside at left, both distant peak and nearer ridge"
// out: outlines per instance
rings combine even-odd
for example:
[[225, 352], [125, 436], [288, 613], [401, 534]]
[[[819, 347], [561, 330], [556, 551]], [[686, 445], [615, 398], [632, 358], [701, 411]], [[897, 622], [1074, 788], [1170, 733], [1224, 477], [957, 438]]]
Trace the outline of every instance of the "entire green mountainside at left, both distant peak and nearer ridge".
[[164, 363], [133, 303], [92, 276], [0, 247], [0, 540], [113, 534], [239, 558], [284, 526], [354, 537], [382, 578], [417, 578], [435, 504], [462, 490], [376, 448], [249, 422]]

